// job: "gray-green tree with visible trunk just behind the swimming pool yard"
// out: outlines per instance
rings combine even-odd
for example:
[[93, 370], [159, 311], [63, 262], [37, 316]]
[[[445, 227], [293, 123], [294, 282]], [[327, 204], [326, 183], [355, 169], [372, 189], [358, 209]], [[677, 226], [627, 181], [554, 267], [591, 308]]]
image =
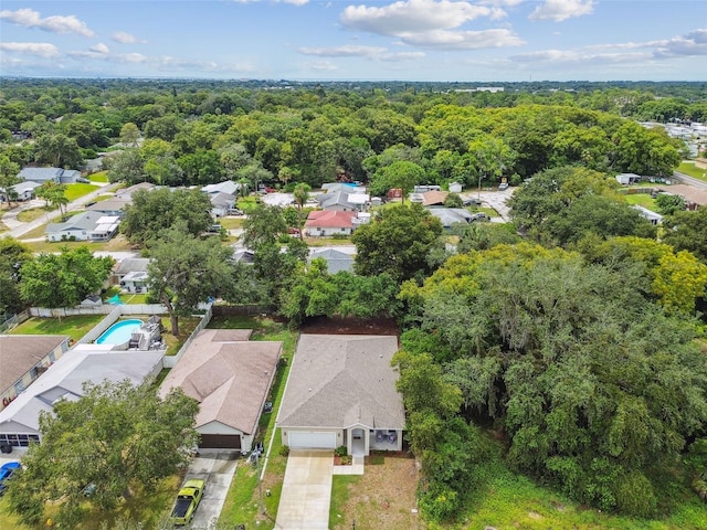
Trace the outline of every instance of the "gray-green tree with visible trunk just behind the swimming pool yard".
[[156, 234], [150, 242], [149, 290], [159, 299], [179, 335], [179, 317], [191, 315], [201, 303], [232, 293], [233, 250], [217, 237], [196, 239], [181, 221]]

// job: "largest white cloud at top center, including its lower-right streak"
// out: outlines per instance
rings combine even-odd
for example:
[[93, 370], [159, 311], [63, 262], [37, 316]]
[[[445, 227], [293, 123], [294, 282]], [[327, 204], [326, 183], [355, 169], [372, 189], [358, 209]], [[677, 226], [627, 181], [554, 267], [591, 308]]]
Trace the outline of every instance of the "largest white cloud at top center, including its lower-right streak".
[[437, 50], [477, 50], [524, 44], [510, 30], [463, 31], [463, 24], [485, 17], [499, 19], [502, 9], [449, 0], [404, 0], [382, 8], [349, 6], [340, 15], [349, 29], [397, 36], [408, 45]]

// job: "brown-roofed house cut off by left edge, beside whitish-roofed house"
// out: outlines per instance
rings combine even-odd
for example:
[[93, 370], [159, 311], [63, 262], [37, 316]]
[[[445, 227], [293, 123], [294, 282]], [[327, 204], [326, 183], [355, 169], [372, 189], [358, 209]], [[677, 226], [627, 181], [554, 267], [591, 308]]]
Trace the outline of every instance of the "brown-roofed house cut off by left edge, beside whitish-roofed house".
[[0, 335], [0, 411], [36, 381], [66, 350], [68, 337], [64, 336]]

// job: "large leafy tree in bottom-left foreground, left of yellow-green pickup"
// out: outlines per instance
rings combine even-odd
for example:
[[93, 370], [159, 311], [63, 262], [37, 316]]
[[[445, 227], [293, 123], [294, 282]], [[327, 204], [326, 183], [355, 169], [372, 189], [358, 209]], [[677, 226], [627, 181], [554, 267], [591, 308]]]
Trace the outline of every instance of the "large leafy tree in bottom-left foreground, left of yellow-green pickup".
[[[78, 400], [62, 400], [53, 413], [40, 413], [41, 444], [22, 457], [22, 469], [8, 488], [8, 507], [28, 526], [52, 519], [78, 528], [86, 505], [101, 512], [140, 488], [155, 492], [159, 481], [189, 462], [198, 441], [193, 428], [199, 403], [172, 389], [158, 395], [150, 381], [85, 383]], [[89, 497], [86, 485], [95, 486]]]

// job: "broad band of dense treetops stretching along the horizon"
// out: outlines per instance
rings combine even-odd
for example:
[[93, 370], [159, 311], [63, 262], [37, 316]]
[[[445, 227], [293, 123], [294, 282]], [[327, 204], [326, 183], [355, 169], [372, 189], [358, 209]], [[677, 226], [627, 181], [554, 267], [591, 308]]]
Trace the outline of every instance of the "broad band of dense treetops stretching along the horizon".
[[[624, 87], [490, 93], [416, 84], [10, 80], [0, 99], [0, 157], [3, 166], [77, 168], [119, 141], [122, 152], [105, 158], [112, 180], [169, 186], [233, 179], [317, 187], [366, 181], [401, 160], [439, 184], [517, 183], [567, 163], [662, 176], [684, 146], [634, 120], [705, 119], [699, 86], [651, 85], [680, 94], [657, 97]], [[12, 131], [30, 141], [13, 142]]]

